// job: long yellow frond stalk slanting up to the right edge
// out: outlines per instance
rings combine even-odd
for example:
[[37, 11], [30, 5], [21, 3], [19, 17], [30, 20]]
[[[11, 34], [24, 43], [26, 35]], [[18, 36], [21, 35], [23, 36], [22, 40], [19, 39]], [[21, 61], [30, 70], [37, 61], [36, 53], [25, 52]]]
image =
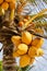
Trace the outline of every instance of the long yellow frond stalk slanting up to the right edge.
[[28, 20], [25, 25], [23, 26], [23, 29], [28, 26], [30, 23], [32, 23], [36, 17], [44, 15], [44, 13], [47, 12], [47, 9], [42, 10], [38, 14], [34, 15], [31, 20]]

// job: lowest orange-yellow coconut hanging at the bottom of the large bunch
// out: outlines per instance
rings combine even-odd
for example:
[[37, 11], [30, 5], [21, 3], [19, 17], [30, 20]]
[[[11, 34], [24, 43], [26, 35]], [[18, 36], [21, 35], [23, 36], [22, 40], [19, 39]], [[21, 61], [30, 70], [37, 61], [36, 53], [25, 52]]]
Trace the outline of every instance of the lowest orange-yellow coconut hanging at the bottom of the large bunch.
[[28, 57], [28, 55], [22, 56], [21, 59], [20, 59], [20, 67], [24, 68], [24, 67], [28, 66], [30, 60], [31, 60], [31, 58]]

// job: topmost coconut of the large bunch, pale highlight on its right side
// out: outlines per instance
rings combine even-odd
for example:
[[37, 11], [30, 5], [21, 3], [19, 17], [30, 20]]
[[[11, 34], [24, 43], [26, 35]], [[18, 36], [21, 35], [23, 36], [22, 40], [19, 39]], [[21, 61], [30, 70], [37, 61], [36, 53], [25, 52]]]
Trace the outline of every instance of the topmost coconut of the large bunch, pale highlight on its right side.
[[32, 42], [32, 34], [30, 34], [28, 32], [23, 32], [22, 42], [25, 43], [26, 45], [30, 45]]

